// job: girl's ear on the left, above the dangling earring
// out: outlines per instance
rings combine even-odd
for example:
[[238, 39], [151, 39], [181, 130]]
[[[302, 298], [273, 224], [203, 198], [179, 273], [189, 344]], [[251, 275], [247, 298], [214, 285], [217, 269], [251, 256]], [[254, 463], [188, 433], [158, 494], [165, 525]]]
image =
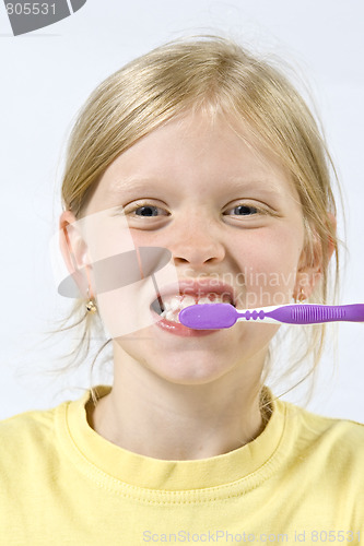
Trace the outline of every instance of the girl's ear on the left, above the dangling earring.
[[87, 245], [78, 227], [78, 218], [64, 211], [59, 218], [59, 246], [68, 271], [84, 298], [93, 297]]

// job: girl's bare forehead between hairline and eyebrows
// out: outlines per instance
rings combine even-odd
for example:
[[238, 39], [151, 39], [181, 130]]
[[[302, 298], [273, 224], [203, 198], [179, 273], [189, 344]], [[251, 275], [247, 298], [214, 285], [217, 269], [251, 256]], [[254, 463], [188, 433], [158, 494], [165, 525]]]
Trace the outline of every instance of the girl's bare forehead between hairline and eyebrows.
[[290, 174], [246, 123], [195, 112], [171, 119], [120, 154], [96, 193], [104, 199], [148, 188], [230, 193], [242, 183], [298, 198]]

